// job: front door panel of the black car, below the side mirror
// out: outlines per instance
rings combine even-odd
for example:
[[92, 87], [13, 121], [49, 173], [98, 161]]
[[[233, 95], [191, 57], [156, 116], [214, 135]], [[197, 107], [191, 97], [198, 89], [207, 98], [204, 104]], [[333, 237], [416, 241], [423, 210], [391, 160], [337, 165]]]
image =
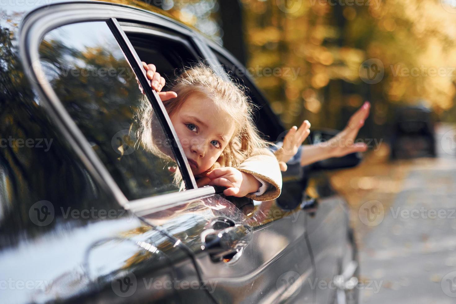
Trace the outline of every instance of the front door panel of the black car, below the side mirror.
[[317, 303], [334, 303], [342, 286], [337, 276], [352, 262], [346, 202], [332, 189], [323, 171], [311, 173], [306, 193], [310, 205], [306, 229], [316, 265], [312, 286]]

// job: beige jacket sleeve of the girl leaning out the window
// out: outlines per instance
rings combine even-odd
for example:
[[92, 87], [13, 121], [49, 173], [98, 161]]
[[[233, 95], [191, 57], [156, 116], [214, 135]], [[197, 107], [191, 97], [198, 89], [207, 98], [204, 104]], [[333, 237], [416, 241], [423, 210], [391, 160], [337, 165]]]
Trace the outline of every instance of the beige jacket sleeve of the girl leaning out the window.
[[249, 193], [247, 197], [255, 201], [270, 201], [279, 197], [282, 191], [282, 173], [277, 158], [268, 149], [262, 149], [258, 155], [249, 157], [236, 169], [254, 175], [271, 185], [262, 195]]

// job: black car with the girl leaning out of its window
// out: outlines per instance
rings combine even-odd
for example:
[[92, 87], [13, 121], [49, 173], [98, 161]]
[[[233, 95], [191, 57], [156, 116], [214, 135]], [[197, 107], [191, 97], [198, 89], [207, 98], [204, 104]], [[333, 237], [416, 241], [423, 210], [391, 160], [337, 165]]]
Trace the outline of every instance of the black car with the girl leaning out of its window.
[[[240, 209], [197, 188], [163, 104], [138, 86], [141, 61], [172, 76], [193, 62], [244, 69], [236, 59], [141, 2], [31, 3], [0, 8], [2, 303], [357, 302], [331, 162], [289, 166], [278, 200]], [[234, 75], [261, 107], [259, 130], [277, 139], [264, 96]], [[137, 144], [144, 101], [174, 160]]]

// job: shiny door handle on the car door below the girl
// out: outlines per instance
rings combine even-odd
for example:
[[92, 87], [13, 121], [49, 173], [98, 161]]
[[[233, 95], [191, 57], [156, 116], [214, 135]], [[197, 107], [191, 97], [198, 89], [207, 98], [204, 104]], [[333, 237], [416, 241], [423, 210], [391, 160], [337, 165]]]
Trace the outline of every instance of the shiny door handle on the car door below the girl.
[[222, 230], [207, 229], [201, 234], [205, 250], [214, 262], [230, 260], [252, 240], [252, 229], [236, 224]]

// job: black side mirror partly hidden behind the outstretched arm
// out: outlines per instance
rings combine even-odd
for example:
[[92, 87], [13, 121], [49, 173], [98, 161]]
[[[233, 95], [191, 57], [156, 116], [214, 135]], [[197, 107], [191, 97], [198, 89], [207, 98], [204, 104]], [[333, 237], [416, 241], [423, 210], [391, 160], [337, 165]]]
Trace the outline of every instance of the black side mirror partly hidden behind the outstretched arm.
[[[328, 141], [340, 131], [334, 129], [321, 129], [311, 132], [309, 142], [318, 144]], [[313, 170], [335, 170], [342, 168], [351, 168], [358, 165], [363, 159], [361, 153], [352, 153], [342, 157], [333, 157], [326, 160], [321, 160], [312, 165]]]

